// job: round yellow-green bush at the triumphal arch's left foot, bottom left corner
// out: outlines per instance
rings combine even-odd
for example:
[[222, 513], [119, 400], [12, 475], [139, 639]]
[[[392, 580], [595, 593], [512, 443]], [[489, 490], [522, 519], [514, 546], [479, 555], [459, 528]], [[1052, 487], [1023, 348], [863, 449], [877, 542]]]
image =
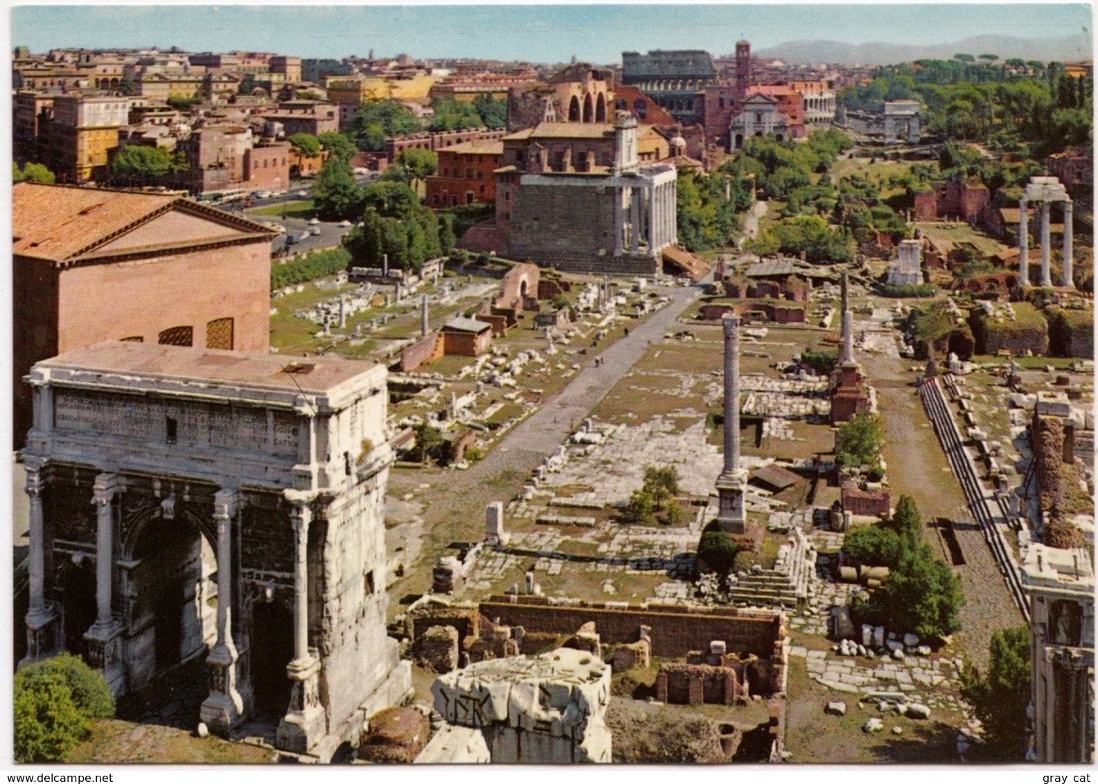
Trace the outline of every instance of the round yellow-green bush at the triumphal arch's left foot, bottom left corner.
[[59, 760], [88, 736], [90, 719], [114, 715], [103, 674], [70, 653], [15, 673], [13, 702], [20, 762]]

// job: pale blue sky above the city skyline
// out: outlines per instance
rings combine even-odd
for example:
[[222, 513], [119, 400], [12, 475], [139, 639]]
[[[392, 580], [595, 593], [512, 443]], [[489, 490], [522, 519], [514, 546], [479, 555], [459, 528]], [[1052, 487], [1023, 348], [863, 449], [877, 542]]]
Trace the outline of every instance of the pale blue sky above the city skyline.
[[623, 51], [732, 52], [830, 38], [933, 44], [982, 35], [1057, 38], [1091, 25], [1088, 4], [22, 5], [12, 44], [253, 49], [303, 57], [496, 57], [618, 63]]

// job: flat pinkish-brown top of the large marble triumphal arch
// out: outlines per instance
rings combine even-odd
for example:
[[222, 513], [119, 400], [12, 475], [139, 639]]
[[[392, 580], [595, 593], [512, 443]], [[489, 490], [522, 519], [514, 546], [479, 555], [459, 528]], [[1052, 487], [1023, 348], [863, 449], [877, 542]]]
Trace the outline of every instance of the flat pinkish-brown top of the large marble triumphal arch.
[[121, 340], [97, 343], [43, 360], [38, 365], [110, 373], [300, 389], [303, 392], [325, 392], [378, 367], [376, 362], [341, 357], [294, 358]]

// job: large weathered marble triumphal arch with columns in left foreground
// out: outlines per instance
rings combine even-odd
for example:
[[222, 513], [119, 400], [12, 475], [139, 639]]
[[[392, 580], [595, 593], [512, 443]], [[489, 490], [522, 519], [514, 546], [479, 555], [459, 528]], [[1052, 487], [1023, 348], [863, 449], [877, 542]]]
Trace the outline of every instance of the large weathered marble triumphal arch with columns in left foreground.
[[23, 661], [82, 654], [123, 695], [200, 658], [212, 731], [277, 724], [324, 762], [357, 741], [412, 685], [385, 634], [385, 376], [120, 341], [37, 362]]

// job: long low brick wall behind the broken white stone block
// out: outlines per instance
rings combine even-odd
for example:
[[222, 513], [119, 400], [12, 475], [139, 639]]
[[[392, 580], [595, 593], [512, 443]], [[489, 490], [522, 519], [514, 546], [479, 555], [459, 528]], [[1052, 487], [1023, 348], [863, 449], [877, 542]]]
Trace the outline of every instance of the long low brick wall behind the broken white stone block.
[[649, 626], [652, 629], [651, 652], [657, 657], [684, 657], [693, 650], [708, 650], [713, 640], [724, 640], [730, 651], [770, 659], [775, 642], [784, 637], [778, 616], [737, 609], [688, 612], [674, 605], [618, 609], [600, 603], [565, 607], [549, 605], [538, 597], [493, 596], [481, 603], [480, 612], [533, 632], [563, 632], [594, 621], [604, 645], [636, 642], [640, 627]]

